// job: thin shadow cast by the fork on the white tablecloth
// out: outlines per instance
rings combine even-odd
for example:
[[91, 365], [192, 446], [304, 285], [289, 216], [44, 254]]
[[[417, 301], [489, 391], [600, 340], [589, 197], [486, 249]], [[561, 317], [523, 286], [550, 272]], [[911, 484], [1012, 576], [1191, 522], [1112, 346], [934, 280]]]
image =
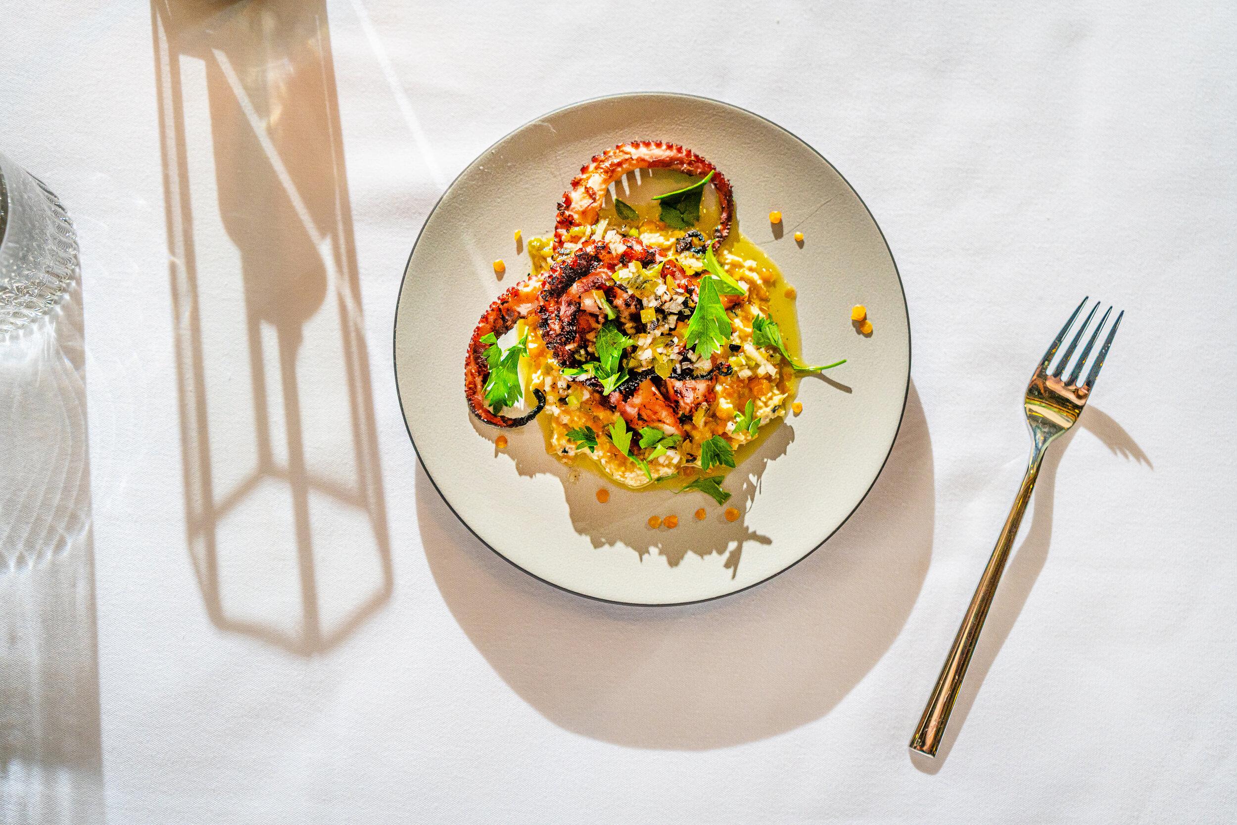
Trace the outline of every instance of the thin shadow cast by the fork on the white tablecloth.
[[[944, 767], [949, 758], [954, 742], [957, 740], [962, 726], [970, 716], [971, 706], [978, 695], [983, 680], [996, 662], [1001, 648], [1004, 646], [1014, 622], [1018, 621], [1022, 609], [1030, 596], [1035, 580], [1039, 578], [1044, 564], [1048, 562], [1048, 549], [1053, 538], [1053, 510], [1056, 492], [1056, 468], [1060, 465], [1061, 455], [1074, 442], [1079, 428], [1086, 429], [1096, 435], [1116, 455], [1132, 459], [1139, 464], [1152, 468], [1152, 461], [1147, 454], [1134, 443], [1129, 433], [1124, 430], [1111, 416], [1095, 407], [1087, 407], [1079, 418], [1079, 427], [1069, 430], [1060, 438], [1056, 445], [1049, 449], [1044, 456], [1044, 464], [1035, 482], [1034, 508], [1030, 517], [1030, 527], [1022, 544], [1018, 545], [1013, 558], [1011, 558], [1004, 574], [1001, 576], [1001, 588], [992, 601], [991, 612], [983, 623], [983, 635], [980, 636], [975, 648], [974, 658], [966, 672], [966, 679], [957, 694], [957, 703], [954, 705], [950, 725], [945, 730], [940, 751], [935, 758], [924, 756], [915, 751], [908, 751], [910, 762], [923, 773], [935, 774]], [[944, 649], [941, 651], [944, 656]], [[935, 677], [935, 674], [933, 674]]]

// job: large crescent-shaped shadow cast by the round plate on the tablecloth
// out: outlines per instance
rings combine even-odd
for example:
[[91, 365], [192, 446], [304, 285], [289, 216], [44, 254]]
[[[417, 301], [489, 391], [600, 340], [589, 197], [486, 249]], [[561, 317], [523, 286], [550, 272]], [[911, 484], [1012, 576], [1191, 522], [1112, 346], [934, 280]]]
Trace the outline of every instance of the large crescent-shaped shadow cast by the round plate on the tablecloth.
[[704, 604], [633, 607], [547, 588], [469, 533], [417, 470], [429, 569], [473, 644], [555, 725], [628, 747], [726, 747], [828, 714], [905, 623], [934, 518], [913, 385], [884, 471], [837, 533], [783, 575]]

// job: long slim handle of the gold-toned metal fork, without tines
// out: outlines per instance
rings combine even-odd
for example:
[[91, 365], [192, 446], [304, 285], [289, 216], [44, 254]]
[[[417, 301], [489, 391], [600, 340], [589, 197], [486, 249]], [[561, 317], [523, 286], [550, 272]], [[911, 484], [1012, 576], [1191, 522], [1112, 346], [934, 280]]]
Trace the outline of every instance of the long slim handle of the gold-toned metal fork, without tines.
[[1001, 583], [1001, 574], [1004, 571], [1006, 562], [1009, 559], [1009, 549], [1013, 547], [1013, 539], [1018, 534], [1018, 526], [1022, 523], [1023, 513], [1027, 512], [1027, 503], [1030, 501], [1030, 492], [1035, 487], [1035, 479], [1039, 476], [1039, 465], [1044, 459], [1044, 449], [1047, 447], [1047, 442], [1040, 443], [1039, 439], [1035, 440], [1030, 461], [1027, 465], [1027, 475], [1023, 476], [1022, 487], [1018, 489], [1018, 495], [1013, 500], [1013, 507], [1009, 510], [1009, 517], [1006, 518], [1001, 538], [997, 539], [996, 549], [992, 550], [992, 558], [988, 559], [988, 566], [985, 568], [983, 576], [980, 578], [980, 584], [971, 597], [971, 606], [966, 609], [962, 625], [957, 628], [957, 636], [954, 637], [954, 647], [950, 648], [949, 656], [945, 657], [945, 665], [940, 669], [940, 675], [936, 678], [936, 686], [933, 688], [923, 716], [919, 717], [919, 725], [915, 727], [914, 736], [910, 737], [912, 751], [918, 751], [931, 757], [936, 756], [936, 748], [940, 747], [940, 741], [945, 736], [945, 725], [949, 724], [949, 715], [952, 712], [954, 703], [957, 700], [957, 691], [962, 686], [962, 677], [966, 675], [966, 667], [971, 663], [971, 654], [975, 653], [976, 642], [980, 641], [983, 620], [988, 616], [988, 607], [992, 606], [992, 597], [997, 592], [997, 584]]

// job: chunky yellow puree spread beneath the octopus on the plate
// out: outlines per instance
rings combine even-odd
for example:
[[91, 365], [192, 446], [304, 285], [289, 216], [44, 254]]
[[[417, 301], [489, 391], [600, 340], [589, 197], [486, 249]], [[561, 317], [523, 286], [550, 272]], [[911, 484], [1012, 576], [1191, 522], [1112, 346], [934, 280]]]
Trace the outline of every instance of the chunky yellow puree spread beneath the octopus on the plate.
[[[678, 261], [687, 272], [704, 271], [703, 255], [691, 251], [678, 252], [674, 249], [675, 241], [687, 234], [684, 230], [669, 229], [666, 224], [651, 219], [647, 209], [641, 210], [646, 213], [642, 219], [631, 221], [621, 221], [612, 210], [607, 212], [609, 218], [602, 218], [591, 226], [571, 230], [569, 241], [574, 244], [600, 237], [612, 242], [623, 235], [636, 235], [664, 257]], [[772, 261], [755, 244], [736, 235], [737, 231], [732, 231], [731, 237], [716, 254], [721, 267], [746, 291], [743, 296], [735, 296], [734, 306], [726, 310], [732, 333], [729, 349], [724, 344], [722, 351], [730, 356], [732, 372], [717, 377], [714, 387], [715, 400], [698, 407], [691, 421], [683, 424], [687, 430], [683, 442], [649, 463], [652, 480], [610, 440], [610, 427], [618, 421], [618, 413], [610, 407], [605, 397], [564, 376], [550, 357], [536, 324], [524, 325], [521, 334], [528, 334], [531, 367], [526, 372], [526, 391], [539, 388], [546, 393], [546, 414], [538, 418], [546, 432], [549, 453], [567, 464], [585, 466], [591, 464], [605, 476], [623, 486], [651, 487], [670, 476], [698, 475], [701, 444], [713, 435], [721, 435], [736, 450], [737, 464], [742, 459], [737, 454], [741, 447], [766, 435], [772, 422], [785, 417], [795, 387], [794, 369], [785, 364], [785, 359], [777, 349], [753, 344], [752, 322], [757, 315], [772, 318], [781, 329], [783, 343], [792, 355], [798, 357], [794, 303], [785, 296], [787, 287]], [[708, 237], [709, 233], [705, 233], [705, 236]], [[549, 250], [549, 237], [528, 240], [534, 273], [550, 266]], [[670, 354], [674, 345], [679, 344], [682, 349], [687, 335], [691, 304], [688, 303], [689, 296], [684, 289], [673, 287], [673, 280], [662, 281], [646, 275], [640, 265], [628, 266], [615, 273], [615, 281], [625, 286], [637, 286], [633, 292], [643, 299], [647, 315], [642, 318], [644, 323], [631, 324], [623, 330], [635, 340], [635, 346], [627, 348], [622, 366], [630, 374], [654, 370], [666, 377], [673, 366]], [[657, 313], [652, 312], [657, 307], [666, 310], [663, 320], [658, 322], [662, 327], [654, 325], [648, 329], [648, 320], [657, 317]], [[678, 320], [669, 327], [666, 317], [669, 314], [673, 318], [675, 309], [680, 309], [677, 313]], [[695, 353], [689, 350], [688, 362], [691, 362], [694, 356]], [[699, 364], [699, 369], [705, 371], [709, 367], [709, 359], [701, 359]], [[738, 429], [736, 421], [736, 413], [743, 412], [748, 401], [753, 402], [755, 416], [760, 418], [756, 435]], [[668, 400], [668, 403], [673, 407], [674, 402]], [[580, 427], [590, 427], [597, 434], [594, 451], [568, 438], [568, 430]], [[649, 450], [637, 449], [638, 442], [640, 433], [633, 432], [631, 450], [633, 455], [641, 458]], [[719, 471], [729, 471], [729, 468], [711, 468], [709, 475]]]

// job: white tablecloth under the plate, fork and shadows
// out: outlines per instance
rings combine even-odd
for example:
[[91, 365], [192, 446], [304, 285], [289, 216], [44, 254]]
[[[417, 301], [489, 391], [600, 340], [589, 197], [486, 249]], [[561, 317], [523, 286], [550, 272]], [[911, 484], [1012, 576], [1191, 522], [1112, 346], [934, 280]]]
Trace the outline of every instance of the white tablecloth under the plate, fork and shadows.
[[[10, 704], [0, 819], [1231, 820], [1235, 35], [1205, 2], [7, 4], [0, 150], [82, 241], [93, 534], [69, 584], [0, 571], [88, 609], [27, 662], [72, 695], [26, 696], [87, 730]], [[480, 545], [391, 365], [455, 173], [546, 110], [648, 89], [833, 161], [913, 334], [855, 517], [668, 610]], [[1126, 309], [1117, 343], [943, 756], [912, 758], [1022, 476], [1021, 392], [1087, 293]]]

